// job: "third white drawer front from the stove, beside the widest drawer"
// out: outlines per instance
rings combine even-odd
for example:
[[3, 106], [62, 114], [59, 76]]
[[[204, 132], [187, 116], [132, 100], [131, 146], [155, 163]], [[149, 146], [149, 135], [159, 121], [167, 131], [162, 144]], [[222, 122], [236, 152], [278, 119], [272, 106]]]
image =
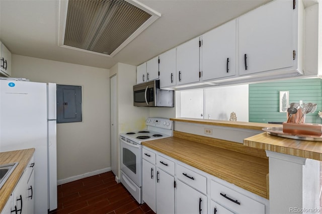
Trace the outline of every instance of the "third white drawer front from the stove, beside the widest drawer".
[[177, 177], [192, 186], [195, 189], [198, 189], [204, 194], [207, 194], [207, 178], [203, 175], [198, 174], [197, 172], [192, 171], [184, 166], [177, 164]]

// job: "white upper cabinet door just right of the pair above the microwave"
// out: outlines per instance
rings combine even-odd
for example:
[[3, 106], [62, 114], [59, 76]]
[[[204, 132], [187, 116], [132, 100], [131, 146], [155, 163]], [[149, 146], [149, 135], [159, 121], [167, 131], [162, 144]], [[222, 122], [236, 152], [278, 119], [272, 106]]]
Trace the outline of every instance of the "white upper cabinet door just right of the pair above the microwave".
[[176, 48], [159, 55], [160, 88], [177, 84]]

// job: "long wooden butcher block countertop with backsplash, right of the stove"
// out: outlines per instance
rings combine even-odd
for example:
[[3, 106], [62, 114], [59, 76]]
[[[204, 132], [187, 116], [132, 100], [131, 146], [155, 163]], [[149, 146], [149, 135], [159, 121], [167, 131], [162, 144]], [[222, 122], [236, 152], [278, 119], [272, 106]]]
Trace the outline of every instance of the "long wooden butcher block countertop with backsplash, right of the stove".
[[[174, 137], [144, 141], [142, 144], [262, 197], [269, 197], [269, 166], [265, 150], [250, 148], [250, 153], [253, 153], [250, 155], [244, 149], [248, 148], [240, 143], [177, 131]], [[257, 156], [256, 151], [259, 151]]]

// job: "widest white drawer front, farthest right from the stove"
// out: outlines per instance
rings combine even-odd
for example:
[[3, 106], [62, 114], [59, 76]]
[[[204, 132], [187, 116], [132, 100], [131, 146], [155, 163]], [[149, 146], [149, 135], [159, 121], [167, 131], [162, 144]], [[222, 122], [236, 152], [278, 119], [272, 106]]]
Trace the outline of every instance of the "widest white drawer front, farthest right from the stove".
[[265, 205], [215, 181], [210, 182], [211, 199], [237, 213], [265, 213]]

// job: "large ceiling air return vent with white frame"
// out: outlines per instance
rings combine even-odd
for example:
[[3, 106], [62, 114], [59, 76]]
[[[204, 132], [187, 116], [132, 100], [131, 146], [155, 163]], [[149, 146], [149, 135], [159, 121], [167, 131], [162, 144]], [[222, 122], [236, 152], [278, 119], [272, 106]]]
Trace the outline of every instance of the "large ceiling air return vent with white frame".
[[112, 57], [159, 17], [134, 0], [61, 0], [59, 46]]

